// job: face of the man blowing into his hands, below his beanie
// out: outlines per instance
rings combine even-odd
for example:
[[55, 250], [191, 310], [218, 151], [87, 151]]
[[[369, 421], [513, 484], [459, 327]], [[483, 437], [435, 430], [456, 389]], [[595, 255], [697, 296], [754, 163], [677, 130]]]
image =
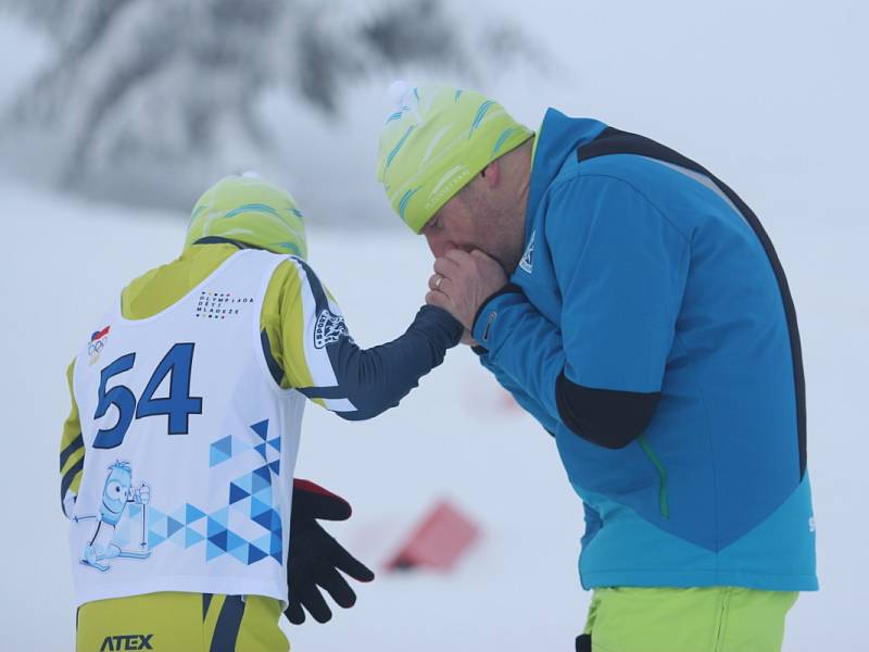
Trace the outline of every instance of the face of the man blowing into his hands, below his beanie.
[[480, 185], [480, 177], [450, 199], [419, 231], [434, 258], [452, 249], [479, 249], [512, 273], [521, 258], [524, 225], [499, 210], [498, 197]]

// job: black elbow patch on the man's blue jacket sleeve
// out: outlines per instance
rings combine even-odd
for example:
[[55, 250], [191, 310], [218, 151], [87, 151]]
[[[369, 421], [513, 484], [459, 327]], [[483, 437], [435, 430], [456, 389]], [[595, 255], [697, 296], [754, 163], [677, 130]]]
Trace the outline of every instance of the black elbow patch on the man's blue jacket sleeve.
[[658, 405], [660, 392], [642, 393], [593, 389], [568, 380], [555, 383], [555, 403], [565, 426], [592, 443], [620, 449], [643, 434]]

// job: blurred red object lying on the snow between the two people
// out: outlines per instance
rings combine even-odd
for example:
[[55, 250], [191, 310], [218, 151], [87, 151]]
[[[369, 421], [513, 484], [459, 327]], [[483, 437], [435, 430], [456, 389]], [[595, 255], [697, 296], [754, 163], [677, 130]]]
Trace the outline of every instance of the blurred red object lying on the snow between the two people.
[[450, 570], [479, 535], [479, 528], [467, 516], [448, 501], [441, 501], [387, 562], [387, 569], [428, 566]]

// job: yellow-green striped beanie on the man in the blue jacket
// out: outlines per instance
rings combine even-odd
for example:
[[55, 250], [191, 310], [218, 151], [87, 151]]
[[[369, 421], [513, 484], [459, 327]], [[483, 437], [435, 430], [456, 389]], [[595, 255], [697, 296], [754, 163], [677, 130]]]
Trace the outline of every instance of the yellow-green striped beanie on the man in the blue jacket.
[[473, 90], [396, 82], [390, 93], [395, 109], [380, 136], [377, 180], [415, 233], [477, 173], [533, 135]]

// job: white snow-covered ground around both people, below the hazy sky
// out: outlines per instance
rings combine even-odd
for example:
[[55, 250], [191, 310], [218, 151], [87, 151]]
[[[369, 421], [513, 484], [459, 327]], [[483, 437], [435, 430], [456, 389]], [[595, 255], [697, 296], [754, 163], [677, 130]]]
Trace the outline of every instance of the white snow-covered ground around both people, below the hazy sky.
[[[119, 287], [178, 251], [184, 222], [0, 185], [8, 218], [0, 263], [7, 498], [0, 564], [0, 649], [68, 650], [74, 629], [56, 453], [67, 409], [63, 372], [93, 315]], [[123, 218], [121, 218], [123, 217]], [[791, 234], [793, 236], [793, 234]], [[858, 650], [853, 617], [866, 599], [862, 560], [869, 453], [860, 379], [869, 305], [853, 258], [865, 226], [785, 237], [801, 309], [810, 405], [823, 590], [790, 617], [785, 650]], [[428, 252], [410, 234], [314, 231], [311, 262], [357, 340], [399, 335], [420, 302]], [[402, 405], [350, 424], [311, 406], [298, 475], [349, 498], [355, 515], [331, 531], [379, 572], [357, 605], [327, 626], [291, 630], [295, 650], [567, 650], [588, 594], [576, 578], [580, 506], [550, 437], [512, 408], [466, 350]], [[451, 575], [392, 576], [382, 563], [439, 498], [483, 537]], [[50, 626], [46, 624], [50, 623]]]

